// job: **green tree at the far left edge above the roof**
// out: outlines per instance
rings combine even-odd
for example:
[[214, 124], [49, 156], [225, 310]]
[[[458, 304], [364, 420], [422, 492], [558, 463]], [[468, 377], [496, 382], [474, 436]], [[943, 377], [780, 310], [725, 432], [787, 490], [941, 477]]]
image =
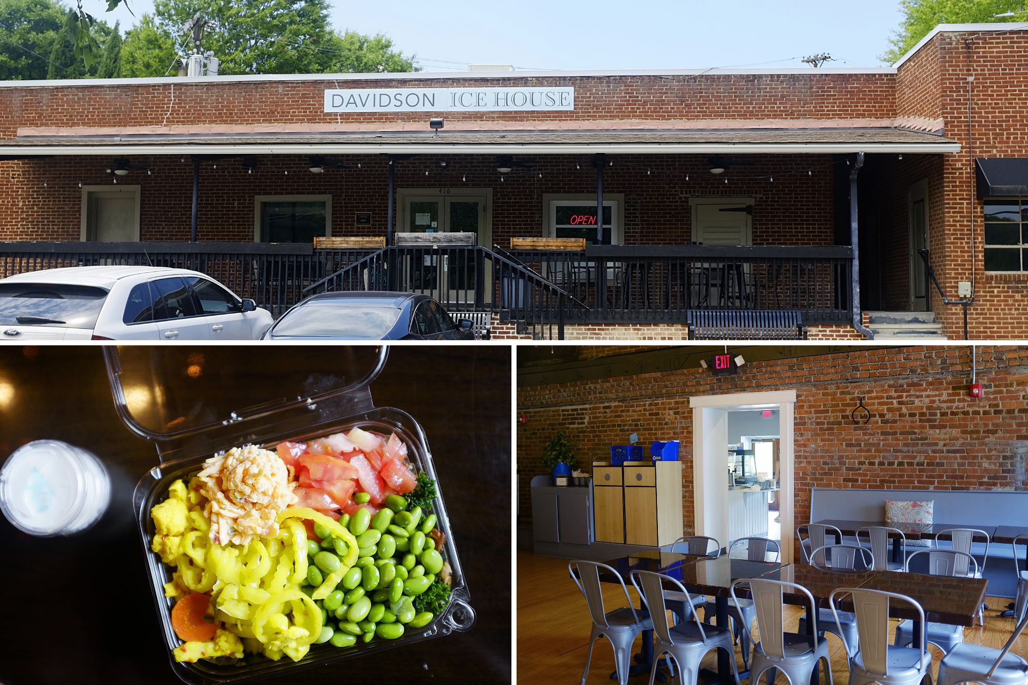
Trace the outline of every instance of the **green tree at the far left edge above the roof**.
[[46, 78], [66, 11], [56, 0], [0, 0], [0, 81]]

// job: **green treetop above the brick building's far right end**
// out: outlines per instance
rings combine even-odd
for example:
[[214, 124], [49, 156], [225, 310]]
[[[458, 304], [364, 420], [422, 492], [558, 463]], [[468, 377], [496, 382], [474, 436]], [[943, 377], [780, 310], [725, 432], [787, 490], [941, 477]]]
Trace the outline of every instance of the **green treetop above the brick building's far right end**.
[[900, 0], [900, 7], [904, 20], [889, 38], [889, 49], [879, 56], [887, 64], [896, 62], [940, 24], [1028, 21], [1028, 12], [995, 17], [1026, 8], [1024, 0]]

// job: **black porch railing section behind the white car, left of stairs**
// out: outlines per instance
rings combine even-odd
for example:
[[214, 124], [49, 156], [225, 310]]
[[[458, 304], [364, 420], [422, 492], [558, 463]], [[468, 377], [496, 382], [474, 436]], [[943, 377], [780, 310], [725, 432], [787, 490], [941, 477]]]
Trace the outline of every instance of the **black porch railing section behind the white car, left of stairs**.
[[373, 250], [267, 243], [0, 243], [0, 278], [63, 266], [153, 265], [207, 274], [276, 317], [303, 289]]

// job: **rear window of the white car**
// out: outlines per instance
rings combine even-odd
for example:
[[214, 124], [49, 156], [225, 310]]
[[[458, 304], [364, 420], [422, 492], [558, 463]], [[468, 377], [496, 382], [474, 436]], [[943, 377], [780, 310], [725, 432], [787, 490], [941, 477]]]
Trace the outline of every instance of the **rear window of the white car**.
[[93, 328], [107, 291], [52, 283], [0, 283], [0, 325]]

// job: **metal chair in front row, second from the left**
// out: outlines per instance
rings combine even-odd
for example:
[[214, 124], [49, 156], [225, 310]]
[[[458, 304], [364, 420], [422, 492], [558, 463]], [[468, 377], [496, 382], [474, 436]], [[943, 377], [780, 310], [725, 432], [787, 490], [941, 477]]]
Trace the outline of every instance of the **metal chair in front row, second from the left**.
[[[657, 664], [664, 653], [669, 654], [670, 658], [673, 658], [677, 664], [680, 683], [696, 683], [699, 679], [700, 661], [711, 649], [724, 649], [728, 652], [732, 662], [732, 675], [735, 676], [735, 682], [739, 682], [739, 674], [735, 668], [735, 643], [732, 640], [731, 630], [719, 625], [704, 627], [696, 614], [693, 603], [689, 600], [689, 592], [682, 583], [670, 576], [652, 571], [632, 571], [631, 581], [639, 596], [646, 600], [646, 606], [653, 619], [653, 629], [657, 637], [657, 647], [653, 654], [653, 669], [650, 670], [650, 685], [653, 685], [653, 680], [657, 675]], [[665, 581], [678, 587], [681, 593], [687, 598], [684, 604], [689, 607], [691, 620], [683, 621], [673, 627], [667, 624], [663, 588]]]

